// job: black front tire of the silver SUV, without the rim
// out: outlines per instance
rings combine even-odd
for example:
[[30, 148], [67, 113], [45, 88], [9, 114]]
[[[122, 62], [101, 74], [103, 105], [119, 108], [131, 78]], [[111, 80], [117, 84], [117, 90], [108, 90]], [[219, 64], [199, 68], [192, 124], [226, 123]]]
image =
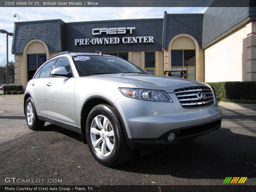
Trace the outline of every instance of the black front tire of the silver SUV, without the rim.
[[[115, 143], [112, 152], [108, 156], [101, 156], [92, 145], [91, 125], [93, 119], [99, 115], [108, 118], [114, 131]], [[125, 139], [124, 129], [116, 110], [106, 104], [97, 105], [90, 111], [86, 121], [86, 139], [89, 149], [95, 159], [100, 162], [100, 164], [108, 167], [124, 164], [125, 162], [129, 161], [134, 154], [134, 151], [128, 147]]]

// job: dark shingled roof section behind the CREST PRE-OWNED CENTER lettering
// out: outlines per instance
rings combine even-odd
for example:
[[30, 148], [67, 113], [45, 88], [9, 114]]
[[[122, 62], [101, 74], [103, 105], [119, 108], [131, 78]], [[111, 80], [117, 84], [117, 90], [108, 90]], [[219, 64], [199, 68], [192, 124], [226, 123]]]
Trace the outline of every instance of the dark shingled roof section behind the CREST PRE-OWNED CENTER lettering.
[[[138, 44], [101, 44], [101, 45], [78, 45], [76, 52], [92, 52], [94, 50], [102, 52], [116, 52], [116, 51], [154, 51], [162, 50], [162, 33], [163, 33], [163, 19], [132, 19], [132, 20], [105, 20], [105, 21], [87, 21], [87, 22], [73, 22], [66, 23], [66, 49], [74, 50], [74, 39], [83, 38], [104, 38], [116, 37], [120, 38], [126, 36], [153, 36], [154, 43], [138, 43]], [[92, 35], [92, 28], [111, 28], [111, 27], [135, 27], [132, 34], [106, 35], [100, 36]]]

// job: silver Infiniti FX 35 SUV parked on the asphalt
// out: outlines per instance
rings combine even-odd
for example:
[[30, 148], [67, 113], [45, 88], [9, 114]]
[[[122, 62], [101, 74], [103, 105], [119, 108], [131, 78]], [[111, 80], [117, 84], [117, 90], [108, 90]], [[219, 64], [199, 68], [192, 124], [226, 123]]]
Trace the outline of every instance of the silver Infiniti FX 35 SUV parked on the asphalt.
[[128, 161], [134, 150], [191, 140], [221, 124], [207, 84], [149, 75], [102, 53], [49, 58], [28, 82], [24, 112], [32, 130], [47, 121], [81, 133], [106, 166]]

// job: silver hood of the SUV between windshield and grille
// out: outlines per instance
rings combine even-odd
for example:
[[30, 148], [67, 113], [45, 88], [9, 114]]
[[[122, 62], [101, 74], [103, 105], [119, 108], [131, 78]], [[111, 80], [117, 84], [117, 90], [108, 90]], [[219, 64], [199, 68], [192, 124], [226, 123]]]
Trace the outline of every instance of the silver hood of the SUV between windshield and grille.
[[137, 85], [140, 89], [162, 90], [167, 93], [172, 93], [173, 90], [184, 87], [206, 86], [204, 83], [188, 79], [148, 74], [104, 74], [97, 75], [97, 77], [123, 80]]

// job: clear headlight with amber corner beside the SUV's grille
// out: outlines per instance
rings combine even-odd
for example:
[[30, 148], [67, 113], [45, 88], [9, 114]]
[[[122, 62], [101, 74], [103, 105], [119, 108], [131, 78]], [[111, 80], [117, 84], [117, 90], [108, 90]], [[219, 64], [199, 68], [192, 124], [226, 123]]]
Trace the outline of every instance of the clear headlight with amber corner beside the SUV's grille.
[[123, 93], [125, 97], [132, 99], [172, 102], [172, 99], [164, 91], [134, 88], [119, 88], [119, 91]]

